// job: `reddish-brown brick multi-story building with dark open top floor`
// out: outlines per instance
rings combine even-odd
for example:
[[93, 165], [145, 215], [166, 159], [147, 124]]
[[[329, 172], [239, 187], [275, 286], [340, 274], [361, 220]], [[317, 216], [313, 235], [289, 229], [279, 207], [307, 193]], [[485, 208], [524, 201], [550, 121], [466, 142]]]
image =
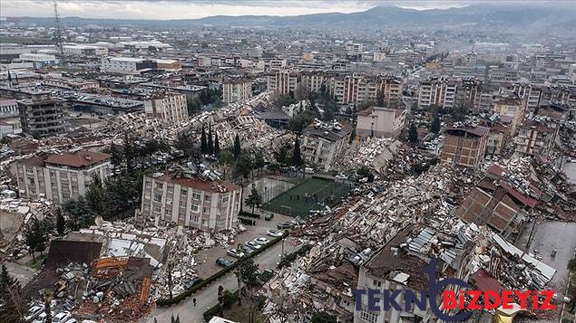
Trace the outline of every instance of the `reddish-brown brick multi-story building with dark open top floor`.
[[445, 163], [478, 170], [486, 151], [488, 130], [483, 127], [446, 129], [440, 159]]

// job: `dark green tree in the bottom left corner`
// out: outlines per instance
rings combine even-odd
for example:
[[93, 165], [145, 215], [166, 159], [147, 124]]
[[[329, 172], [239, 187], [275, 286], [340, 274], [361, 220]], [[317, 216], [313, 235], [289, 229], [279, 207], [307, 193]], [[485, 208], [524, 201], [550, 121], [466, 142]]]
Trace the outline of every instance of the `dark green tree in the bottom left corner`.
[[10, 276], [5, 264], [0, 271], [0, 322], [24, 322], [28, 299], [22, 286]]

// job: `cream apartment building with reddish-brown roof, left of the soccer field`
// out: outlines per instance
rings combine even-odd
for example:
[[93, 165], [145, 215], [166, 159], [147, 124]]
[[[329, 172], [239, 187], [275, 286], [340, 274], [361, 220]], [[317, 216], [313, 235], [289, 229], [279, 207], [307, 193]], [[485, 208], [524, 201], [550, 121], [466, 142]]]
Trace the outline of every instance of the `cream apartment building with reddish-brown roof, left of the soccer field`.
[[202, 231], [236, 227], [242, 187], [209, 177], [154, 174], [144, 176], [142, 215]]

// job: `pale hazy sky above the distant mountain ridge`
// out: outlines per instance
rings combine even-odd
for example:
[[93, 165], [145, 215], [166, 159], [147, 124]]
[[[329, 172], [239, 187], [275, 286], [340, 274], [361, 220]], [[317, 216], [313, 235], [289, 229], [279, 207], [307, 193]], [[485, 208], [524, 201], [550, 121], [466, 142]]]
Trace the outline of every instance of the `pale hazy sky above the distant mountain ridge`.
[[[457, 0], [365, 0], [365, 1], [303, 1], [303, 0], [260, 0], [260, 1], [146, 1], [146, 0], [59, 0], [58, 12], [62, 17], [80, 16], [87, 18], [123, 19], [186, 19], [210, 15], [297, 15], [318, 13], [353, 13], [376, 5], [399, 5], [422, 9], [445, 9], [482, 1]], [[493, 1], [484, 1], [494, 3]], [[498, 3], [498, 2], [495, 2]], [[0, 0], [2, 16], [51, 17], [54, 15], [52, 1], [44, 0]]]

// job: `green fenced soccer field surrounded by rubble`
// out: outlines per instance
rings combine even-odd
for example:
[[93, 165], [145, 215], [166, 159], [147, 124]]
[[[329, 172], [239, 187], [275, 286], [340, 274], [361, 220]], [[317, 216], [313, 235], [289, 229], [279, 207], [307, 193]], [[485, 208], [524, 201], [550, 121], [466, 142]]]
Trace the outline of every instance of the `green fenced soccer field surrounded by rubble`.
[[350, 187], [333, 181], [310, 178], [276, 196], [262, 209], [291, 216], [308, 215], [323, 205], [330, 205], [350, 191]]

